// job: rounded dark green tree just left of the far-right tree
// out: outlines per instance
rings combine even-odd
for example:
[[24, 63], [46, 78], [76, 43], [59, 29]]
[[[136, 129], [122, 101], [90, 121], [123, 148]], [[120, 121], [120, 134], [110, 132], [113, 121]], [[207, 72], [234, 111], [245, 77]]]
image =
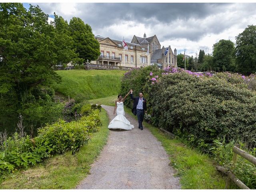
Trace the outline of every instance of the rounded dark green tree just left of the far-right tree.
[[213, 45], [213, 64], [214, 68], [218, 68], [221, 71], [233, 71], [235, 70], [234, 64], [234, 43], [230, 40], [220, 40]]

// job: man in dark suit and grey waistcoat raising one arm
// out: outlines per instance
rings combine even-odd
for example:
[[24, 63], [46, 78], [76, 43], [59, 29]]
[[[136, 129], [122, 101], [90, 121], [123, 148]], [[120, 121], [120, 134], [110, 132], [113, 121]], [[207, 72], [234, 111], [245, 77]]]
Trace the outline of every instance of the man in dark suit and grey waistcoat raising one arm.
[[132, 90], [130, 90], [130, 96], [131, 99], [134, 100], [133, 107], [132, 107], [132, 113], [134, 115], [137, 115], [138, 117], [138, 123], [140, 130], [143, 130], [142, 122], [144, 118], [144, 111], [147, 113], [147, 102], [146, 99], [143, 98], [143, 94], [139, 93], [138, 97], [133, 97]]

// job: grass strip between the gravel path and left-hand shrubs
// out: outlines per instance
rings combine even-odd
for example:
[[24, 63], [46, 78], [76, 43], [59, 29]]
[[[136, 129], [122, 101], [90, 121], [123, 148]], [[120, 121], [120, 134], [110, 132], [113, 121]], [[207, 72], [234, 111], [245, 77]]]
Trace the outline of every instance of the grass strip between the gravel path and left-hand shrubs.
[[56, 155], [28, 170], [20, 170], [0, 183], [0, 189], [74, 189], [90, 173], [90, 164], [100, 154], [108, 138], [108, 116], [100, 113], [102, 128], [91, 141], [72, 155]]

